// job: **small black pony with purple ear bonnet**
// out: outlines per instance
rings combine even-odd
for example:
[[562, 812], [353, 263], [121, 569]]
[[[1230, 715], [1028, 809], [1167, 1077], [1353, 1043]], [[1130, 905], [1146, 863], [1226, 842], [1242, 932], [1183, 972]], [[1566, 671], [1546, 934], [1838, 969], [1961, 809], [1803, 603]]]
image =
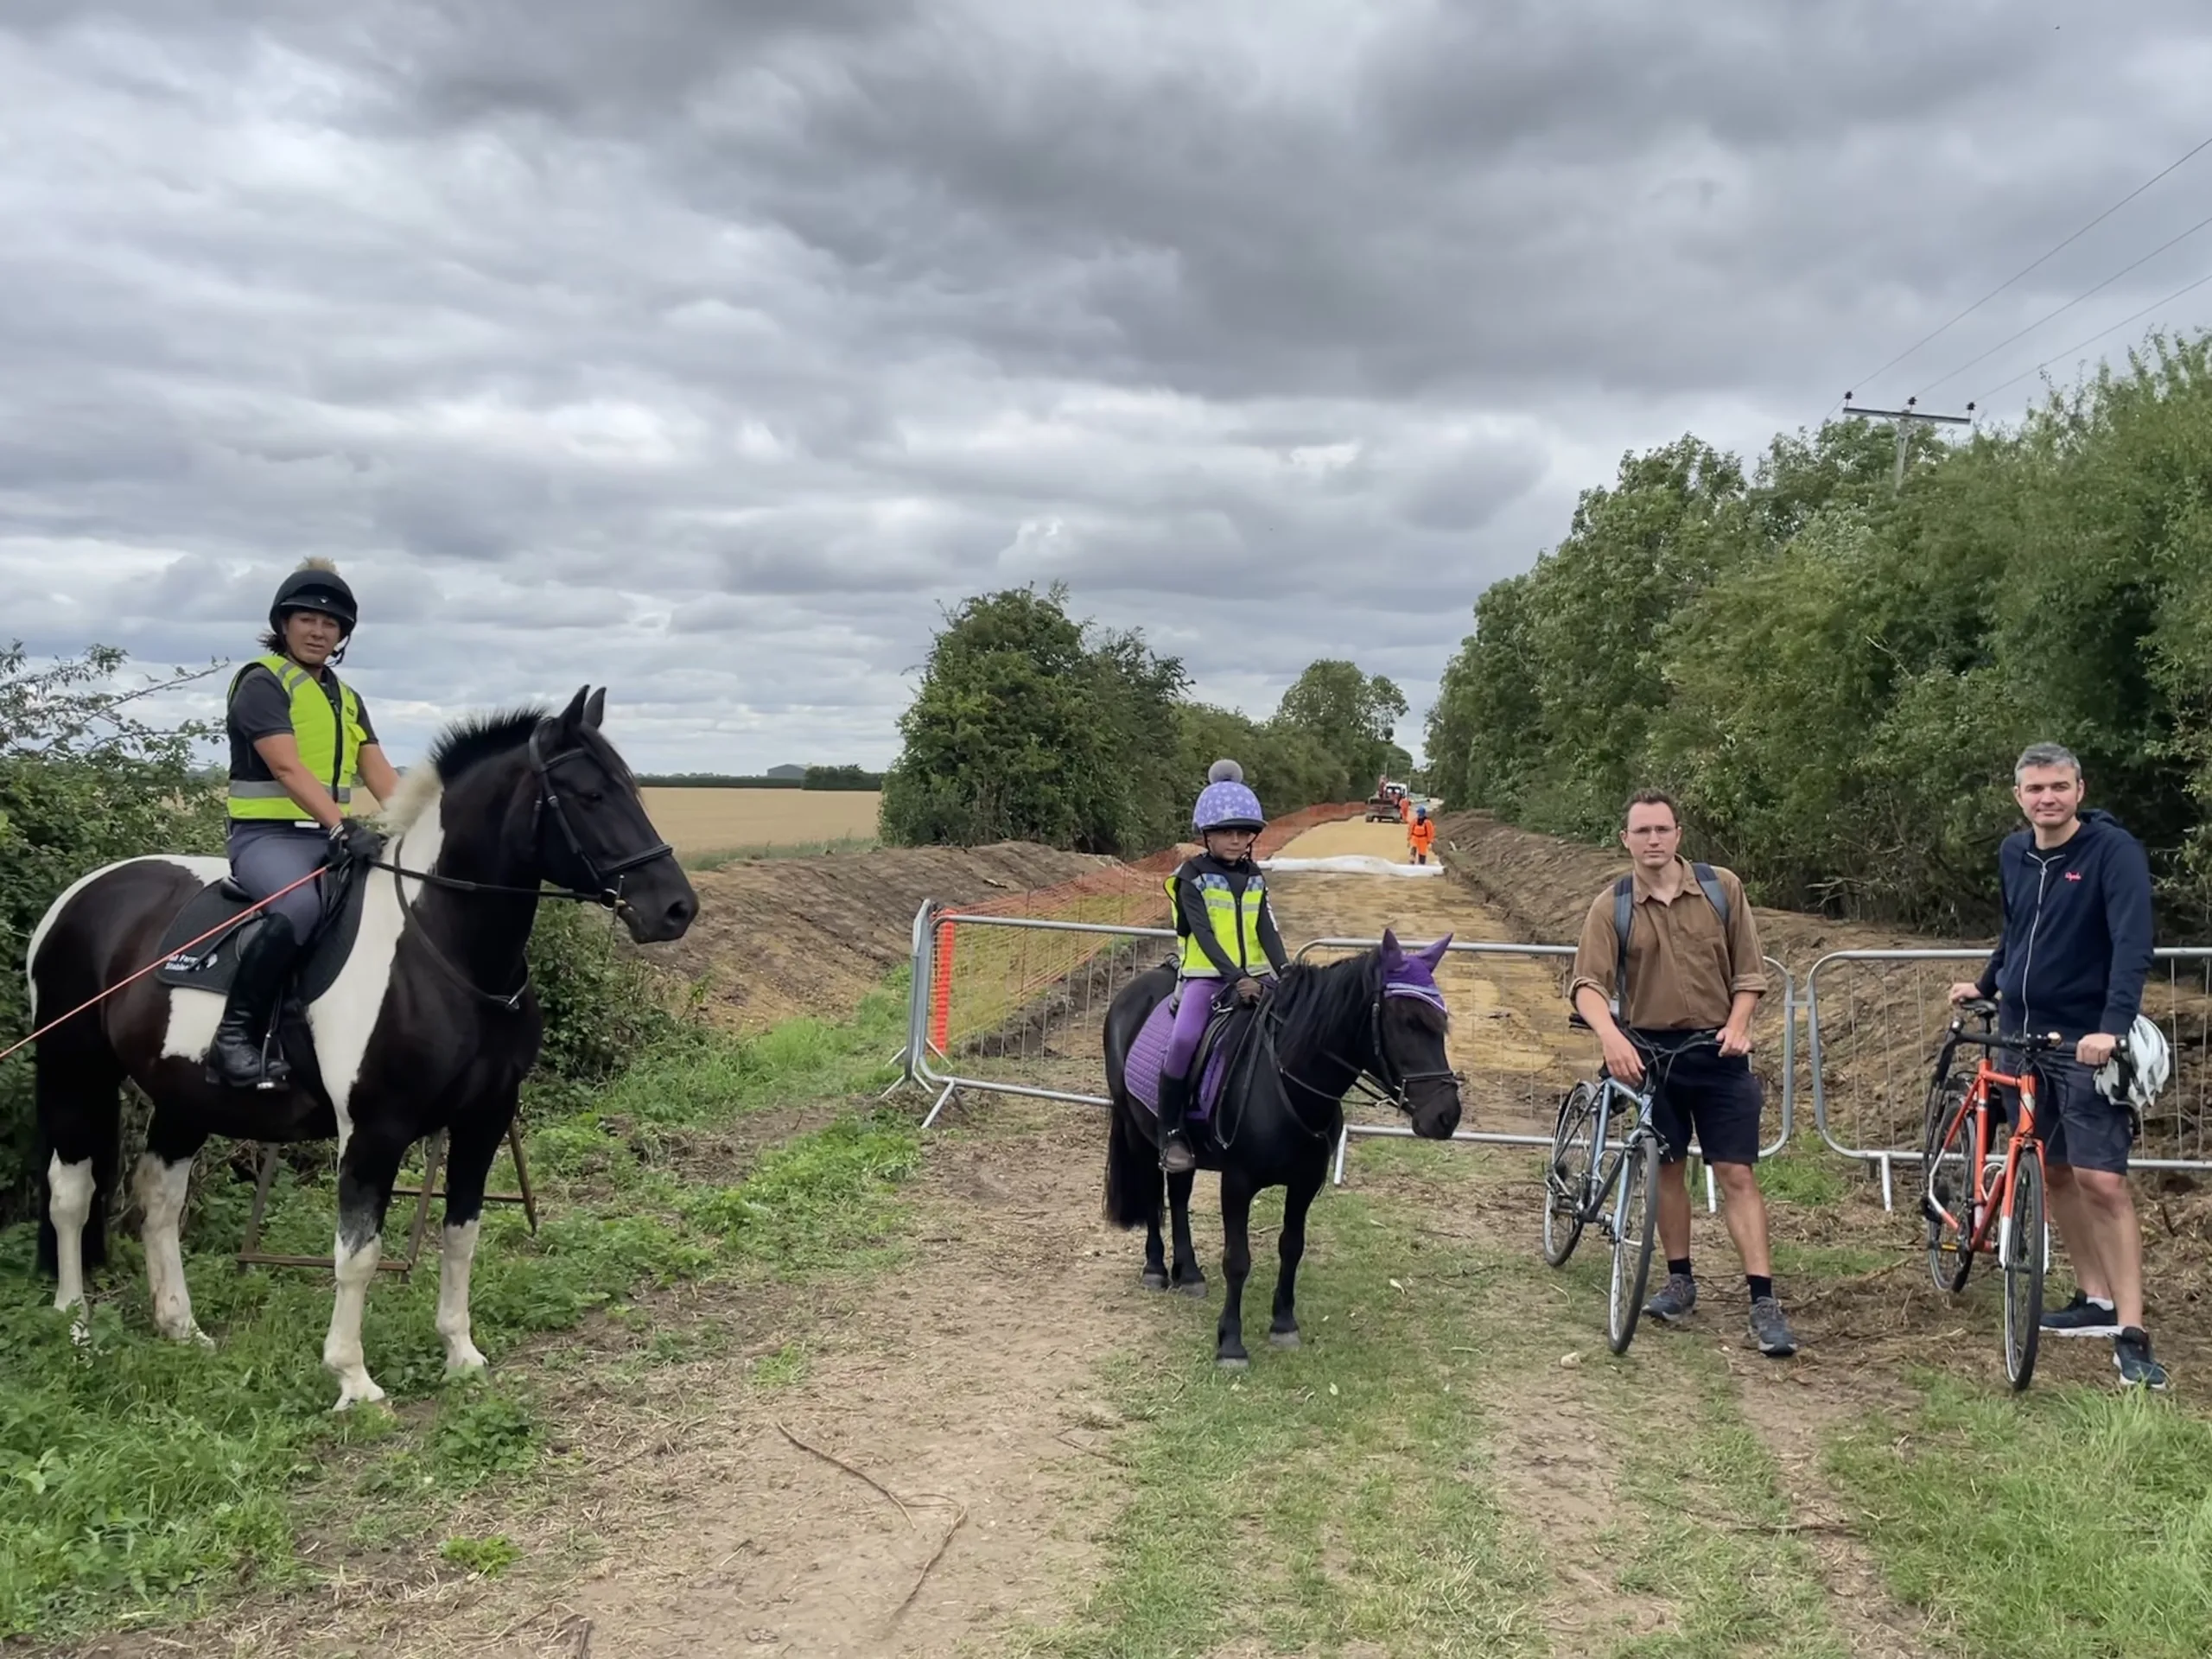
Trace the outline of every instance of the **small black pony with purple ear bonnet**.
[[[1451, 938], [1409, 953], [1389, 931], [1383, 945], [1327, 967], [1294, 962], [1270, 991], [1256, 1018], [1254, 1060], [1223, 1066], [1212, 1133], [1194, 1133], [1199, 1168], [1221, 1170], [1221, 1272], [1228, 1296], [1214, 1334], [1214, 1360], [1241, 1369], [1243, 1285], [1252, 1272], [1250, 1214], [1261, 1188], [1285, 1188], [1283, 1272], [1274, 1281], [1274, 1323], [1267, 1340], [1298, 1347], [1296, 1283], [1305, 1254], [1305, 1212], [1329, 1172], [1343, 1130], [1345, 1091], [1374, 1077], [1383, 1093], [1413, 1119], [1413, 1133], [1442, 1141], [1460, 1126], [1460, 1079], [1444, 1060], [1444, 998], [1436, 964]], [[1144, 1283], [1152, 1290], [1206, 1294], [1206, 1274], [1190, 1250], [1190, 1175], [1166, 1177], [1175, 1212], [1172, 1272], [1159, 1239], [1157, 1119], [1130, 1088], [1130, 1051], [1152, 1015], [1175, 991], [1175, 969], [1135, 978], [1106, 1011], [1106, 1093], [1113, 1126], [1106, 1137], [1106, 1219], [1117, 1228], [1144, 1223]], [[1192, 984], [1186, 995], [1201, 995]], [[1230, 1037], [1234, 1042], [1234, 1037]], [[1197, 1124], [1192, 1126], [1197, 1130]]]

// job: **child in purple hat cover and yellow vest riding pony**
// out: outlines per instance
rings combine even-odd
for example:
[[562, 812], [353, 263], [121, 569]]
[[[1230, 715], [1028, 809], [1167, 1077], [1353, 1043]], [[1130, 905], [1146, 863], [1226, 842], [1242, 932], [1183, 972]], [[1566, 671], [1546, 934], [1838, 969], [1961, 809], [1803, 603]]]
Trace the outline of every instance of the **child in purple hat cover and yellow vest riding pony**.
[[1245, 787], [1237, 761], [1214, 761], [1190, 827], [1206, 852], [1168, 876], [1181, 938], [1175, 1029], [1159, 1066], [1159, 1168], [1168, 1175], [1199, 1168], [1183, 1119], [1190, 1113], [1190, 1068], [1214, 1004], [1228, 995], [1259, 1002], [1261, 980], [1290, 964], [1267, 907], [1267, 880], [1252, 863], [1252, 843], [1267, 827], [1267, 814]]

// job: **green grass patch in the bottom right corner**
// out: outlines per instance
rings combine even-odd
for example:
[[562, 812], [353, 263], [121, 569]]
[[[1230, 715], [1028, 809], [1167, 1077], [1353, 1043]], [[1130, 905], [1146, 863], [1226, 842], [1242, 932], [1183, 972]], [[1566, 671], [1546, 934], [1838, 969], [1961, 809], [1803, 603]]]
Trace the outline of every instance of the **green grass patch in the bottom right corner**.
[[1944, 1652], [2212, 1652], [2212, 1422], [2170, 1400], [1931, 1378], [1913, 1413], [1838, 1436], [1827, 1473]]

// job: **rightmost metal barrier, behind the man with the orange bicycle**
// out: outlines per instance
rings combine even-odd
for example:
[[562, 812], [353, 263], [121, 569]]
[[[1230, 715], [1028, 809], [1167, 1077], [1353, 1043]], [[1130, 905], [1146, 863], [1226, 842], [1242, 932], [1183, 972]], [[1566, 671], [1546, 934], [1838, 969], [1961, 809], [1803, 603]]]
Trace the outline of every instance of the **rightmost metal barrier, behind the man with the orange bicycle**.
[[[2174, 1077], [2128, 1164], [2212, 1170], [2212, 949], [2168, 947], [2154, 958], [2143, 1013], [2166, 1029]], [[1986, 949], [1832, 951], [1805, 975], [1814, 1124], [1832, 1150], [1880, 1172], [1882, 1208], [1896, 1203], [1896, 1166], [1920, 1161], [1949, 987], [1986, 960]]]

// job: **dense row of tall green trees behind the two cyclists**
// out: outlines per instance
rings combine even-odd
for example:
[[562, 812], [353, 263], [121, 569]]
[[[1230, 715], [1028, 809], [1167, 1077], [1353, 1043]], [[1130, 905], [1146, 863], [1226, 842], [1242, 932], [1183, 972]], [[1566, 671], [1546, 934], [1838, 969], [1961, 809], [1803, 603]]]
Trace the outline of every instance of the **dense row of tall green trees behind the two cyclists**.
[[1995, 916], [2026, 741], [2081, 754], [2152, 852], [2163, 929], [2212, 916], [2212, 341], [2152, 336], [2017, 427], [1697, 438], [1621, 465], [1484, 591], [1429, 714], [1451, 799], [1610, 830], [1668, 783], [1774, 902]]

